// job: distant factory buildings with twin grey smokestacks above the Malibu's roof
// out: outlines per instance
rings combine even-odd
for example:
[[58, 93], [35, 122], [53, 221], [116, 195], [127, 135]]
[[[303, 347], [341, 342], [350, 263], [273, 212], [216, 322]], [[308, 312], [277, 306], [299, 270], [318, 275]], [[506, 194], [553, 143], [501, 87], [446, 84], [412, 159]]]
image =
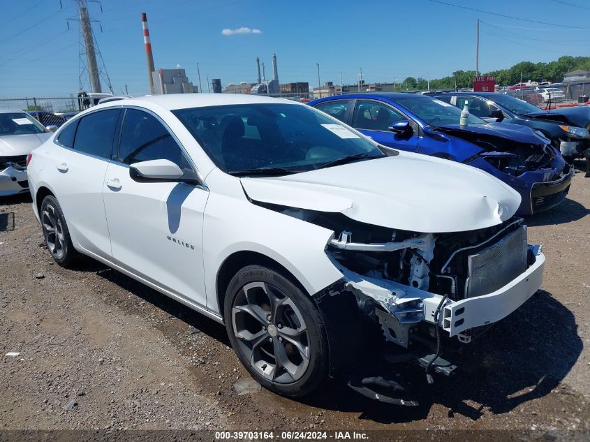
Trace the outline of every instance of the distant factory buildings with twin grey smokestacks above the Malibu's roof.
[[276, 65], [276, 54], [272, 54], [272, 80], [266, 78], [265, 64], [260, 64], [260, 58], [256, 57], [257, 79], [256, 83], [240, 82], [230, 83], [223, 94], [255, 94], [255, 95], [293, 95], [309, 94], [309, 83], [294, 82], [279, 84], [279, 68]]

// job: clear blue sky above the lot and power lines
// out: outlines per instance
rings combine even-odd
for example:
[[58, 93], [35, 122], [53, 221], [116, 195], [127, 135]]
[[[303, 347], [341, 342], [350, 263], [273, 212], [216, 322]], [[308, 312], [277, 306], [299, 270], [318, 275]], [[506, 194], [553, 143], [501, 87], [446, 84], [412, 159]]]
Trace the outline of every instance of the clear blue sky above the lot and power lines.
[[[147, 13], [156, 68], [186, 69], [207, 91], [207, 76], [226, 84], [256, 81], [256, 57], [281, 82], [391, 82], [440, 78], [475, 68], [475, 20], [480, 71], [519, 61], [590, 55], [587, 0], [445, 0], [556, 27], [455, 8], [431, 0], [103, 0], [89, 2], [96, 39], [115, 93], [146, 94], [140, 13]], [[102, 12], [101, 12], [102, 5]], [[0, 0], [0, 98], [69, 96], [78, 91], [78, 22], [74, 0]], [[102, 31], [100, 26], [102, 25]], [[248, 27], [260, 33], [223, 35]], [[580, 27], [585, 29], [573, 29]], [[226, 34], [228, 34], [226, 32]], [[87, 75], [84, 76], [88, 89]], [[104, 82], [103, 82], [104, 83]], [[103, 89], [105, 85], [103, 84]]]

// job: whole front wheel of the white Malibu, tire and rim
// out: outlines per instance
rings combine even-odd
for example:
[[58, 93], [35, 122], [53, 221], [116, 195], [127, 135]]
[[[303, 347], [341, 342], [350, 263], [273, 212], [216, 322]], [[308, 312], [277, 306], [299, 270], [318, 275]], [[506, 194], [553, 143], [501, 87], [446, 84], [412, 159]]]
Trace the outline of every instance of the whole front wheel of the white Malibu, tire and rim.
[[260, 385], [302, 396], [325, 379], [329, 355], [320, 311], [283, 275], [260, 265], [239, 270], [224, 313], [234, 351]]

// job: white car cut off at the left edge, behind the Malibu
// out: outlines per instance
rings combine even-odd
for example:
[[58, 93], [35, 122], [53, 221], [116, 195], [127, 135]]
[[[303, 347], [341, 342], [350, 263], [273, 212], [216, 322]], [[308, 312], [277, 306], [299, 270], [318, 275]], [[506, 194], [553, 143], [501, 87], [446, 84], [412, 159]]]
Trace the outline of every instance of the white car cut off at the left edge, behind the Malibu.
[[0, 109], [0, 197], [27, 193], [27, 155], [50, 138], [31, 115]]

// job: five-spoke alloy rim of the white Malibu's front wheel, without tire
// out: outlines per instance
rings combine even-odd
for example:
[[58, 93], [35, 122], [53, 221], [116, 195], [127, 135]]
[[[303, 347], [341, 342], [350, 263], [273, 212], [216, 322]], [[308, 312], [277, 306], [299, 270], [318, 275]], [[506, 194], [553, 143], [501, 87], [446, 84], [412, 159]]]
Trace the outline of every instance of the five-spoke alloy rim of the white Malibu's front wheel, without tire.
[[293, 383], [309, 366], [309, 334], [286, 293], [265, 282], [244, 285], [232, 307], [233, 332], [251, 367], [270, 381]]

